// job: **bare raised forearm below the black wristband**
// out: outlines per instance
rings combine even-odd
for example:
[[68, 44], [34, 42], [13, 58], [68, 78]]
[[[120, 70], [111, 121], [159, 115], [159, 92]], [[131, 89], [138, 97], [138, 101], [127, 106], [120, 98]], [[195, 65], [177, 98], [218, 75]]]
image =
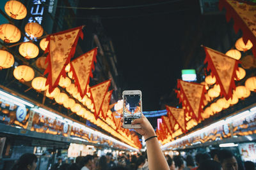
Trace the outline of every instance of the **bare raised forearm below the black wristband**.
[[168, 163], [160, 148], [157, 138], [148, 139], [148, 141], [146, 141], [146, 146], [147, 146], [147, 156], [148, 156], [148, 169], [149, 170], [169, 169]]

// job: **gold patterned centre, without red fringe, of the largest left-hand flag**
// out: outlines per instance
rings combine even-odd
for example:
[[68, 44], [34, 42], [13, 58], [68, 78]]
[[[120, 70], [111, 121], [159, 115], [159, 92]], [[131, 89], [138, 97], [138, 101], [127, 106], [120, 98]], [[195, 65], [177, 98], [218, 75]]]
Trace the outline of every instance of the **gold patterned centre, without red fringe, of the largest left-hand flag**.
[[57, 80], [67, 61], [68, 55], [72, 49], [72, 45], [76, 40], [79, 29], [67, 32], [65, 34], [58, 34], [50, 36], [50, 56], [52, 69], [52, 86]]

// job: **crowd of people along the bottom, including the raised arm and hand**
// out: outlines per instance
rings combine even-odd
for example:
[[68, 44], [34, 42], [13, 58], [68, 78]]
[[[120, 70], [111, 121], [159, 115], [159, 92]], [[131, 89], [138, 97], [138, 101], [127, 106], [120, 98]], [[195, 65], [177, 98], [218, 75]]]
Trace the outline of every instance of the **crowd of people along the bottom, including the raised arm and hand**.
[[[123, 122], [124, 119], [121, 120]], [[136, 119], [132, 124], [140, 124], [141, 128], [135, 131], [145, 138], [147, 152], [137, 155], [122, 154], [113, 157], [107, 153], [76, 157], [71, 164], [62, 163], [61, 159], [51, 167], [51, 170], [255, 170], [255, 163], [242, 162], [230, 150], [212, 149], [207, 153], [196, 153], [193, 157], [186, 155], [164, 155], [157, 141], [156, 133], [146, 117]], [[35, 170], [36, 155], [25, 153], [13, 166], [12, 170]]]

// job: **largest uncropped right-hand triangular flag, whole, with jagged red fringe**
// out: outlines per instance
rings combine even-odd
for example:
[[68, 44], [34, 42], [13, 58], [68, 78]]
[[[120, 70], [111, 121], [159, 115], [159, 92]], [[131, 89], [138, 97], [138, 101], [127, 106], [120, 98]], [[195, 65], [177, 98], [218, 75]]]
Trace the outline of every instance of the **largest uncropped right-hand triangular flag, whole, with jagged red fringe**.
[[220, 85], [220, 95], [228, 100], [232, 97], [232, 90], [236, 89], [234, 78], [237, 78], [239, 60], [205, 46], [204, 50], [206, 54], [204, 63], [208, 62], [207, 70], [211, 69], [216, 77], [216, 84]]

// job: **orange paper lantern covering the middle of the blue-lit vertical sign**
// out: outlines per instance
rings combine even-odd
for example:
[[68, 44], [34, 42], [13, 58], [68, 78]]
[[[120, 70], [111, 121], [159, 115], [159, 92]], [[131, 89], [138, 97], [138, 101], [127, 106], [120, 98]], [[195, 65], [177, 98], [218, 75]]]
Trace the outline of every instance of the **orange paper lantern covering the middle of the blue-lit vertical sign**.
[[38, 38], [43, 35], [43, 27], [36, 22], [29, 22], [25, 25], [25, 31], [29, 34], [31, 38]]

